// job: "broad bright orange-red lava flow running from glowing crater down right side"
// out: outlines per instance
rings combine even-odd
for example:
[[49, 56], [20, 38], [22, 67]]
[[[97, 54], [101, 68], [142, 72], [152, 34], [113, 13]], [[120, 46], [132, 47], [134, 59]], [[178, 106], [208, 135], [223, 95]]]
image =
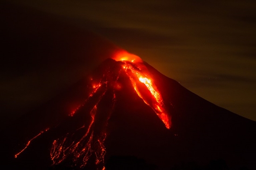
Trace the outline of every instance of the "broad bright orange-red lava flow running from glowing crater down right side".
[[[157, 116], [165, 124], [166, 128], [169, 129], [171, 121], [169, 120], [168, 114], [164, 109], [161, 94], [152, 81], [152, 78], [150, 78], [150, 74], [146, 67], [143, 65], [141, 58], [133, 54], [129, 54], [128, 52], [119, 52], [116, 54], [114, 59], [116, 61], [121, 61], [124, 64], [123, 69], [129, 76], [136, 93], [148, 106], [150, 106], [155, 111]], [[141, 89], [138, 81], [143, 83], [148, 88], [153, 100], [148, 99], [148, 97], [144, 95], [144, 90]]]

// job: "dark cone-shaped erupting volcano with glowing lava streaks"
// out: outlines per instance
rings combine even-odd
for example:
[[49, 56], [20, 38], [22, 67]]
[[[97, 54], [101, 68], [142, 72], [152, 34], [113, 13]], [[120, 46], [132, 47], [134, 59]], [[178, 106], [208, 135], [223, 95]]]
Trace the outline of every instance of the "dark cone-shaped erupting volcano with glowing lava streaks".
[[255, 130], [255, 121], [202, 99], [121, 51], [6, 128], [2, 166], [111, 170], [113, 157], [133, 156], [145, 160], [148, 169], [218, 159], [231, 169], [253, 169]]

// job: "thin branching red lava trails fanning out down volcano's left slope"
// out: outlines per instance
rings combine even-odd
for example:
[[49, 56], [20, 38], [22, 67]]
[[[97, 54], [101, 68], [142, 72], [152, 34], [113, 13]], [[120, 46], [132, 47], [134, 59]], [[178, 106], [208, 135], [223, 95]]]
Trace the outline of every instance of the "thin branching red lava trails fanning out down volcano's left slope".
[[[107, 76], [108, 77], [108, 76]], [[118, 79], [118, 76], [115, 79]], [[106, 80], [107, 79], [107, 80]], [[97, 101], [95, 106], [90, 111], [90, 124], [88, 126], [81, 126], [74, 133], [67, 133], [60, 139], [55, 139], [52, 145], [52, 149], [50, 151], [50, 156], [54, 165], [60, 164], [64, 160], [68, 160], [73, 162], [75, 166], [80, 168], [84, 168], [91, 159], [95, 159], [94, 164], [97, 167], [97, 170], [104, 170], [104, 156], [106, 154], [106, 148], [104, 146], [104, 141], [107, 137], [107, 133], [105, 132], [106, 126], [108, 125], [108, 119], [110, 118], [110, 114], [115, 105], [115, 89], [112, 90], [113, 100], [110, 101], [112, 103], [112, 107], [110, 106], [109, 111], [105, 111], [108, 114], [98, 115], [98, 105], [100, 104], [102, 98], [107, 92], [108, 82], [112, 80], [108, 80], [108, 78], [103, 78], [100, 80], [100, 83], [97, 85], [92, 85], [92, 92], [88, 96], [88, 99], [85, 101], [83, 105], [77, 107], [74, 112], [70, 114], [70, 116], [74, 116], [75, 113], [79, 112], [82, 106], [86, 106], [87, 102], [91, 102], [93, 96], [99, 95], [97, 97]], [[112, 78], [111, 78], [112, 79]], [[101, 88], [101, 89], [100, 89]], [[100, 91], [100, 92], [99, 92]], [[96, 94], [100, 93], [100, 94]], [[95, 95], [94, 95], [95, 94]], [[111, 104], [110, 104], [111, 105]], [[107, 116], [105, 117], [104, 122], [97, 122], [95, 119], [96, 116]], [[101, 119], [99, 119], [101, 121]], [[101, 130], [94, 130], [94, 127], [102, 126]], [[79, 134], [84, 133], [80, 138], [74, 139], [74, 137], [80, 136]], [[94, 158], [92, 158], [94, 157]]]

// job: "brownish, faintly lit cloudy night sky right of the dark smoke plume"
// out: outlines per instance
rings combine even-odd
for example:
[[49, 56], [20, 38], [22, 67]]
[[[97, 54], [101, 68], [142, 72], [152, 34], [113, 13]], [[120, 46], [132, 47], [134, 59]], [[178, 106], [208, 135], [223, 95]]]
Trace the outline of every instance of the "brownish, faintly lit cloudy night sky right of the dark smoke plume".
[[[202, 98], [256, 120], [254, 0], [9, 1], [94, 31]], [[83, 41], [77, 42], [81, 46], [79, 43]], [[29, 76], [20, 76], [24, 88], [26, 78]], [[12, 83], [17, 79], [6, 80], [1, 86], [1, 93], [5, 93], [1, 101], [12, 93], [12, 89], [7, 91]], [[18, 97], [23, 98], [22, 93]]]

